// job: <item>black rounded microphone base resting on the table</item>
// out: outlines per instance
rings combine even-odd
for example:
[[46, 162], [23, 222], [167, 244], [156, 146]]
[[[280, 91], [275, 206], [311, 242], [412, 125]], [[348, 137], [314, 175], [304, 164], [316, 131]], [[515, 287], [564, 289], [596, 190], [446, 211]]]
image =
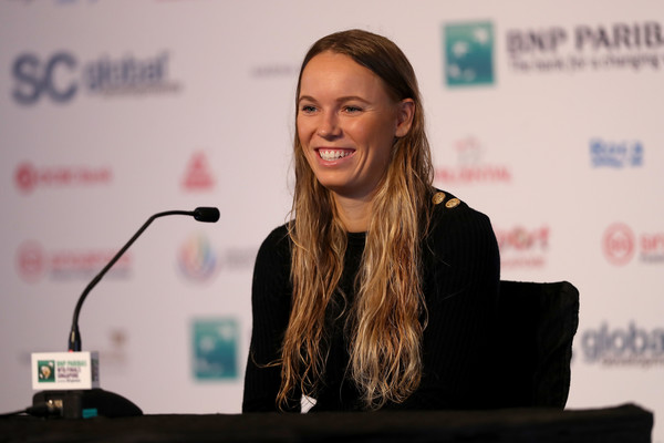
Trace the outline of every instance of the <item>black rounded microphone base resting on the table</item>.
[[46, 405], [50, 418], [92, 419], [94, 416], [137, 416], [143, 411], [129, 400], [101, 388], [73, 391], [41, 391], [32, 405]]

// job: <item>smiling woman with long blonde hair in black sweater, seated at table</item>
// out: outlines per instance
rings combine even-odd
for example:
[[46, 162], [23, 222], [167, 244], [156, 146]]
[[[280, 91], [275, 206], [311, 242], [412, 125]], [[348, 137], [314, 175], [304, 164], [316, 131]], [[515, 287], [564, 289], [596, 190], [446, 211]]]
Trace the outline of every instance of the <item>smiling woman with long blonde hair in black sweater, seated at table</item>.
[[243, 412], [491, 405], [498, 247], [432, 187], [413, 68], [360, 30], [309, 50], [292, 219], [257, 257]]

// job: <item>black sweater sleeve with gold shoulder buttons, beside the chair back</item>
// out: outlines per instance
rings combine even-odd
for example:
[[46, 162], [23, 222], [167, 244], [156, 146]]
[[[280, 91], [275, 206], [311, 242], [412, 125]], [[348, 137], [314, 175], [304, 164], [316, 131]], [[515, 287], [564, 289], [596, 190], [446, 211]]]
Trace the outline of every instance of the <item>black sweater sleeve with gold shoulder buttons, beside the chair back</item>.
[[[456, 204], [456, 206], [455, 206]], [[494, 402], [490, 337], [500, 259], [489, 218], [437, 205], [424, 254], [423, 379], [404, 409], [481, 409]]]

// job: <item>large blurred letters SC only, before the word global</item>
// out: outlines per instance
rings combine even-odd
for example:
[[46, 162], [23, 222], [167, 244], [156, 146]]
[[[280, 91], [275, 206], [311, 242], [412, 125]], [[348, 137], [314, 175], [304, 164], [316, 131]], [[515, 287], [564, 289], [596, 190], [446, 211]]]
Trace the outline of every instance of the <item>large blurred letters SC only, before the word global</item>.
[[53, 102], [69, 102], [79, 89], [74, 70], [76, 59], [69, 52], [56, 52], [48, 59], [33, 53], [19, 55], [12, 65], [13, 99], [23, 105], [37, 103], [42, 95]]

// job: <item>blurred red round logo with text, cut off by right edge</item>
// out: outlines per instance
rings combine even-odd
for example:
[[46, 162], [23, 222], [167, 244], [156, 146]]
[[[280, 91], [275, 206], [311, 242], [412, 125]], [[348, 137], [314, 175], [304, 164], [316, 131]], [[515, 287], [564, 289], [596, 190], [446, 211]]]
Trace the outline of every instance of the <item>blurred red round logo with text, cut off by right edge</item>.
[[616, 223], [604, 230], [602, 250], [609, 262], [623, 266], [636, 256], [641, 262], [664, 262], [664, 231], [635, 234], [625, 224]]

